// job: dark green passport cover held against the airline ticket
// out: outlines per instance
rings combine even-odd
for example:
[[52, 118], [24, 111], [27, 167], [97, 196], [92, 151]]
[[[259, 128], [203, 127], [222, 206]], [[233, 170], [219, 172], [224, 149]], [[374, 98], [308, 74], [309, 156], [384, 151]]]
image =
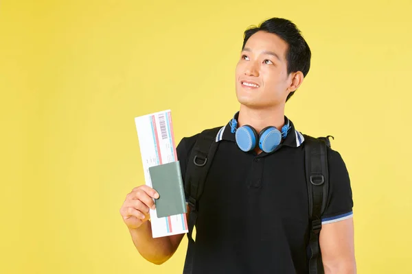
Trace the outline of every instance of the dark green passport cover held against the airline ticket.
[[157, 218], [186, 213], [179, 161], [151, 166], [149, 173], [152, 187], [159, 193], [155, 199]]

